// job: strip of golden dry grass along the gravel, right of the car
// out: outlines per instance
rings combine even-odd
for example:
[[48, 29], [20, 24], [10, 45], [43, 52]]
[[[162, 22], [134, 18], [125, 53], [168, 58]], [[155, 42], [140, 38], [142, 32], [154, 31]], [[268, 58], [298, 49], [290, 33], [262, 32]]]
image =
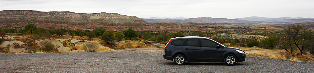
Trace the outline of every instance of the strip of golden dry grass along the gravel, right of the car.
[[305, 52], [302, 56], [300, 55], [300, 52], [296, 53], [288, 53], [283, 49], [263, 49], [258, 47], [236, 47], [244, 50], [246, 54], [256, 54], [256, 55], [262, 55], [267, 56], [270, 58], [276, 58], [276, 59], [283, 59], [283, 60], [290, 60], [295, 62], [314, 62], [314, 55], [310, 54], [309, 52]]

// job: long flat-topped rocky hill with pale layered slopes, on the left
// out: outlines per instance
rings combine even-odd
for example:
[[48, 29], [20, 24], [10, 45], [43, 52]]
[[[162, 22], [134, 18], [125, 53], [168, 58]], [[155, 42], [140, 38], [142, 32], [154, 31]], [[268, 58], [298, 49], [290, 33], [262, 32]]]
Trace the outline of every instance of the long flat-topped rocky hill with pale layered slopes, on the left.
[[71, 25], [143, 25], [148, 22], [136, 16], [126, 16], [117, 13], [75, 13], [70, 11], [32, 11], [32, 10], [4, 10], [0, 11], [1, 25], [22, 23], [54, 23]]

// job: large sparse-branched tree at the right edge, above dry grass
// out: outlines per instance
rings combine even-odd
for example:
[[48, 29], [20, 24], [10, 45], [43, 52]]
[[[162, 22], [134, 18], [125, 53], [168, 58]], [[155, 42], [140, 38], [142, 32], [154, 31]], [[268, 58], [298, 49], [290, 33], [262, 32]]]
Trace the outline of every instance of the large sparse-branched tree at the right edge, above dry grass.
[[[293, 44], [290, 48], [296, 47], [303, 54], [304, 49], [312, 51], [313, 53], [313, 31], [304, 28], [302, 25], [293, 25], [284, 28], [284, 39], [288, 41], [288, 44]], [[282, 45], [283, 46], [283, 45]]]

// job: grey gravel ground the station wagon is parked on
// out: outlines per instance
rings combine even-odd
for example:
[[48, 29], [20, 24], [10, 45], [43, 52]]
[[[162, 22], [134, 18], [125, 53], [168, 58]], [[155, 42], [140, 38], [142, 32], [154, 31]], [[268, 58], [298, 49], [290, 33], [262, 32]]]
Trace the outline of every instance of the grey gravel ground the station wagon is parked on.
[[314, 63], [254, 58], [235, 66], [187, 62], [177, 66], [164, 51], [144, 48], [110, 52], [0, 54], [0, 72], [314, 72]]

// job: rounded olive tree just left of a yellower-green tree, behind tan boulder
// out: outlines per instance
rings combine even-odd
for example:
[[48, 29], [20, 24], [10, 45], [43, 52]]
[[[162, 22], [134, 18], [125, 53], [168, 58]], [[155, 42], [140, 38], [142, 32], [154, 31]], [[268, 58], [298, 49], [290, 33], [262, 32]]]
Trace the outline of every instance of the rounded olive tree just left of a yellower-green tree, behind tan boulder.
[[109, 45], [109, 42], [113, 42], [115, 39], [114, 33], [112, 30], [106, 31], [104, 34], [101, 35], [101, 40], [106, 42]]

